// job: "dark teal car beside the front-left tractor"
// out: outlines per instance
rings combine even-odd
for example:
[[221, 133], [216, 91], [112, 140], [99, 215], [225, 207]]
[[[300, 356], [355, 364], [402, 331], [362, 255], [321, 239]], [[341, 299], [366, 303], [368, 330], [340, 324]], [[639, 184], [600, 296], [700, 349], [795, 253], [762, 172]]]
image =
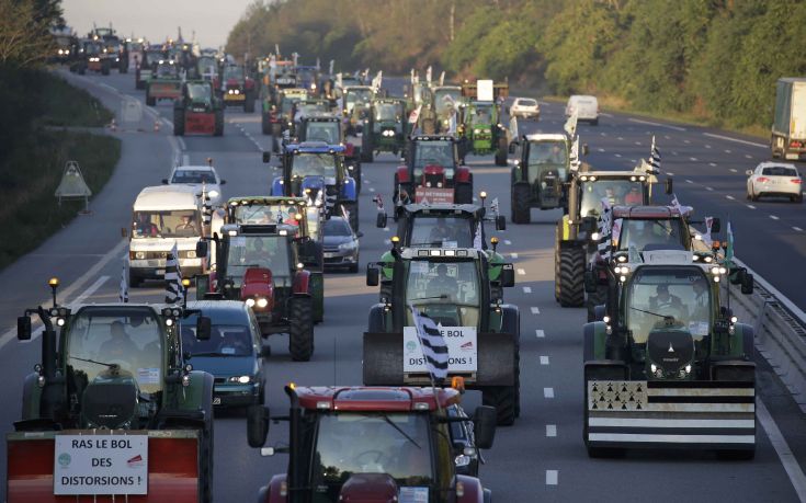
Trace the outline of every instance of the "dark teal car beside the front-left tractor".
[[265, 401], [260, 328], [252, 309], [237, 300], [189, 301], [211, 319], [211, 338], [195, 338], [196, 315], [182, 320], [182, 351], [196, 370], [215, 377], [213, 404], [246, 407]]

